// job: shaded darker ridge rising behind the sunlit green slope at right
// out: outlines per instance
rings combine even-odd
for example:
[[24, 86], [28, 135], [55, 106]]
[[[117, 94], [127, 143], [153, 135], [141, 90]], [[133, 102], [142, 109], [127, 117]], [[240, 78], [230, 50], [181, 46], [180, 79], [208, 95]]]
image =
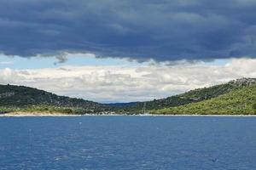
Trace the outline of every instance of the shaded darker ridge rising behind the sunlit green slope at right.
[[[207, 99], [216, 98], [222, 94], [228, 94], [231, 91], [240, 89], [243, 87], [252, 86], [256, 84], [256, 78], [241, 78], [228, 83], [212, 86], [210, 88], [198, 88], [191, 90], [184, 94], [177, 94], [166, 99], [154, 99], [147, 101], [147, 110], [159, 110], [163, 108], [175, 107], [180, 105], [187, 105], [190, 103], [196, 103]], [[137, 102], [136, 105], [130, 105], [123, 107], [121, 112], [141, 112], [145, 102]]]

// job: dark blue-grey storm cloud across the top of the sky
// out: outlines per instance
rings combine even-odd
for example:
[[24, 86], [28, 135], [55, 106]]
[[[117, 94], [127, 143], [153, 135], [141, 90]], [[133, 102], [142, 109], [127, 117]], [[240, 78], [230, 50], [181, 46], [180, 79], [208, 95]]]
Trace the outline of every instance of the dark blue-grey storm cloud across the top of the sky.
[[0, 51], [158, 61], [255, 56], [255, 16], [253, 0], [3, 0]]

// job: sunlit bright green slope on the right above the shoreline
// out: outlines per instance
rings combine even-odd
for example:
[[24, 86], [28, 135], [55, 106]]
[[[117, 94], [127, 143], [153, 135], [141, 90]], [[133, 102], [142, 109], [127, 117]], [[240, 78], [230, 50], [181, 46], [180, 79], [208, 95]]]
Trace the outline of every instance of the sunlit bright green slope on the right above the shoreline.
[[256, 85], [198, 103], [151, 111], [152, 114], [256, 115]]

